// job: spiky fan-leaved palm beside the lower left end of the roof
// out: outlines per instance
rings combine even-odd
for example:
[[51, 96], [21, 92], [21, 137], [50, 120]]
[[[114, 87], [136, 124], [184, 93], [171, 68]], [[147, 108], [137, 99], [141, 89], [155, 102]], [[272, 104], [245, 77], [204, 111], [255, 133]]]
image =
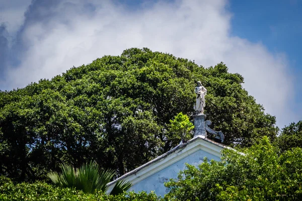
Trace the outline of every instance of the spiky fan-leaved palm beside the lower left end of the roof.
[[[71, 165], [62, 164], [61, 173], [49, 172], [47, 177], [51, 181], [62, 188], [75, 188], [85, 193], [95, 193], [96, 190], [107, 191], [107, 184], [114, 176], [114, 171], [100, 171], [97, 163], [83, 164], [80, 168], [73, 168]], [[127, 191], [131, 187], [128, 181], [120, 181], [116, 183], [110, 194], [119, 194]]]

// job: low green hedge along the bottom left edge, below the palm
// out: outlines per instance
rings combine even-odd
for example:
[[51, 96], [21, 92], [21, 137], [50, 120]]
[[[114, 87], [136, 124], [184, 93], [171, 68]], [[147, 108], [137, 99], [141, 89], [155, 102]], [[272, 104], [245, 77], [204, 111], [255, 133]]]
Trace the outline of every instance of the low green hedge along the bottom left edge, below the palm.
[[[5, 182], [4, 182], [5, 180]], [[18, 183], [4, 176], [0, 176], [0, 200], [3, 201], [21, 201], [21, 200], [87, 200], [87, 201], [131, 201], [131, 200], [160, 200], [154, 193], [122, 193], [118, 195], [106, 195], [103, 191], [97, 191], [95, 194], [84, 193], [82, 190], [73, 188], [54, 187], [45, 182], [36, 181], [34, 183]]]

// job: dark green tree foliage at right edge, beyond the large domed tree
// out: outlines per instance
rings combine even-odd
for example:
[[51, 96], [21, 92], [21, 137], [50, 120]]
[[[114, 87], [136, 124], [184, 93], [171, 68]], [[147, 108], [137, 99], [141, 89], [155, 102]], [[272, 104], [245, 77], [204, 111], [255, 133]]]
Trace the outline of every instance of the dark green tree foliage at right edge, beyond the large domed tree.
[[302, 121], [284, 127], [276, 144], [282, 152], [293, 147], [302, 148]]

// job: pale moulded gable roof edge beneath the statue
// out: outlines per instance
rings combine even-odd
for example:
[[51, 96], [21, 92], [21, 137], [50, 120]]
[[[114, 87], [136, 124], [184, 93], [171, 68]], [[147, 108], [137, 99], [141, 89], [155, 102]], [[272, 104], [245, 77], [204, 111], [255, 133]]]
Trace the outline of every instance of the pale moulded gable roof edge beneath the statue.
[[108, 183], [108, 192], [110, 192], [114, 184], [121, 179], [128, 180], [134, 185], [198, 150], [206, 151], [220, 158], [220, 151], [224, 148], [226, 148], [226, 146], [207, 139], [204, 136], [197, 135], [188, 142], [179, 144], [167, 153], [137, 167], [116, 180], [111, 181]]

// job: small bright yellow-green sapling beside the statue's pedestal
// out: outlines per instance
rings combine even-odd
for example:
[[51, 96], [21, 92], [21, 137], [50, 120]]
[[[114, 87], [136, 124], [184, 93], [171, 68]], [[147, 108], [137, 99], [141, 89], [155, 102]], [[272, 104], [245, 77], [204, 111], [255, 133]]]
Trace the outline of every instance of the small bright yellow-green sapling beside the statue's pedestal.
[[180, 112], [173, 120], [170, 120], [169, 129], [169, 138], [172, 141], [186, 141], [192, 138], [190, 132], [194, 129], [194, 125], [190, 122], [187, 115], [183, 115], [182, 112]]

